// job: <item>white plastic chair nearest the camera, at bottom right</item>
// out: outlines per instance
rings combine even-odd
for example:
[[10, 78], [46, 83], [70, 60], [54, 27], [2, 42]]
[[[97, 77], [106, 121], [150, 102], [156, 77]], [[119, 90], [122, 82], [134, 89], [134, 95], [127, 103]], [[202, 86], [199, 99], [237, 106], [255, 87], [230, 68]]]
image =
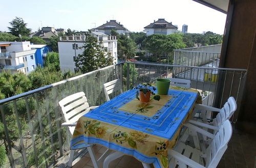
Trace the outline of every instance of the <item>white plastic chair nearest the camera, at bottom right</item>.
[[[194, 127], [195, 129], [198, 128]], [[227, 144], [232, 135], [232, 126], [226, 120], [216, 135], [209, 134], [207, 131], [200, 131], [200, 133], [214, 137], [206, 152], [204, 153], [201, 150], [185, 145], [183, 142], [179, 142], [174, 150], [168, 150], [169, 167], [176, 167], [177, 165], [181, 168], [185, 168], [187, 165], [194, 168], [217, 167], [227, 149]]]

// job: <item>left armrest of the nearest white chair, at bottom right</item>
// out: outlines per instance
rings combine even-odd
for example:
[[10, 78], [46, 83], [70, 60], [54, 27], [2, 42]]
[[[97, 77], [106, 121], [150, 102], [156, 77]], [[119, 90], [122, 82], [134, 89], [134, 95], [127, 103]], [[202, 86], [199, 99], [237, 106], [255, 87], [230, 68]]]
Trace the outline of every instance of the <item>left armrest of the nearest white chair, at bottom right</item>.
[[188, 157], [180, 154], [179, 152], [176, 152], [174, 150], [168, 150], [168, 157], [174, 157], [175, 159], [179, 160], [180, 162], [185, 163], [186, 165], [194, 168], [205, 168], [201, 164], [195, 162], [194, 160], [189, 159]]

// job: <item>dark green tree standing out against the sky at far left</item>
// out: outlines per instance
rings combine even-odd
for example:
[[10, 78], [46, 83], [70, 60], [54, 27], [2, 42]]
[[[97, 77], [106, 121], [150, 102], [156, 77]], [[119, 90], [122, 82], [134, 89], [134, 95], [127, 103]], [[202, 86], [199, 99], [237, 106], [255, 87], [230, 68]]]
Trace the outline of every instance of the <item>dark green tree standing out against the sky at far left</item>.
[[12, 35], [28, 36], [31, 33], [31, 29], [27, 28], [27, 23], [24, 22], [23, 18], [15, 17], [11, 22], [11, 27], [8, 27]]

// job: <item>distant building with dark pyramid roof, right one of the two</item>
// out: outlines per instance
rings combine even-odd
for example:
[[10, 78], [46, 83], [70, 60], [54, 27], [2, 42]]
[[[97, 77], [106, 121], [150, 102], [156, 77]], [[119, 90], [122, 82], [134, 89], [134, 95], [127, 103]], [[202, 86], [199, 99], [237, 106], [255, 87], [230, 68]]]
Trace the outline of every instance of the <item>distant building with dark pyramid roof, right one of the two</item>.
[[178, 27], [172, 24], [172, 22], [167, 22], [164, 19], [158, 19], [157, 21], [154, 20], [153, 23], [144, 27], [144, 31], [146, 35], [153, 35], [153, 34], [164, 34], [169, 35], [178, 31]]

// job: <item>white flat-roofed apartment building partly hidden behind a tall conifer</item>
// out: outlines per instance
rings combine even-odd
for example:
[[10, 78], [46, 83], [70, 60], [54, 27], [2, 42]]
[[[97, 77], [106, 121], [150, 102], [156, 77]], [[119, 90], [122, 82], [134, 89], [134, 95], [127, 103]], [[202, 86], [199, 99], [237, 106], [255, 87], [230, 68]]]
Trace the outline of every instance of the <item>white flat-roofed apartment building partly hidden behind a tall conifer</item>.
[[[106, 52], [111, 53], [113, 57], [113, 64], [117, 63], [117, 39], [116, 36], [108, 36], [100, 32], [92, 32], [94, 37], [97, 37], [98, 41], [101, 41], [101, 45], [105, 48]], [[83, 49], [80, 48], [84, 45], [85, 36], [63, 36], [59, 38], [59, 64], [60, 70], [75, 71], [75, 58], [78, 54], [82, 54]]]

